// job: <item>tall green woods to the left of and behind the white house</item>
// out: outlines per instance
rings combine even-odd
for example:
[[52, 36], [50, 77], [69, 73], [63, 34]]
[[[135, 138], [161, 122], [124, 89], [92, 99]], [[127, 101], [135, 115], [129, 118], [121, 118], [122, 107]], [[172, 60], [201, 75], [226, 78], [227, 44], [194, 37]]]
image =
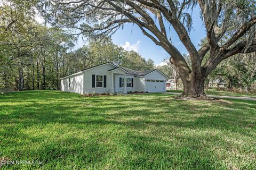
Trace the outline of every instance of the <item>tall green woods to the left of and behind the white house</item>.
[[59, 89], [59, 78], [109, 61], [134, 70], [153, 69], [152, 60], [109, 38], [88, 39], [74, 50], [77, 37], [72, 33], [35, 21], [37, 3], [7, 1], [0, 7], [0, 88]]

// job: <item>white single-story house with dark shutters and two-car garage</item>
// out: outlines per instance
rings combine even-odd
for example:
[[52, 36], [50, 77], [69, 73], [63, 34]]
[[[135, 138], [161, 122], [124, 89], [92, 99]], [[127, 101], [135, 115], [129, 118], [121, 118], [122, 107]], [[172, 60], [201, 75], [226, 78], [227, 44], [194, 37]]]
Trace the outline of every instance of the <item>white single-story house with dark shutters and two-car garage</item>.
[[163, 92], [167, 76], [158, 69], [135, 71], [111, 62], [63, 77], [61, 91], [78, 94], [106, 92]]

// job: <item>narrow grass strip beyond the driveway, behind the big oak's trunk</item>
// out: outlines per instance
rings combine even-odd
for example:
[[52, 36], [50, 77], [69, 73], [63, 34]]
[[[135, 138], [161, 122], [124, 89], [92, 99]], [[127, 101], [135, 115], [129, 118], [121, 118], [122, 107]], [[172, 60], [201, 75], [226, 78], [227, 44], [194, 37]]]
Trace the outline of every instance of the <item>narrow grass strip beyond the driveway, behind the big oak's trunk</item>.
[[[180, 92], [182, 93], [183, 90], [167, 90], [168, 92]], [[218, 91], [214, 89], [205, 89], [206, 95], [216, 95], [216, 96], [236, 96], [236, 97], [256, 97], [256, 94], [238, 94], [229, 91]]]

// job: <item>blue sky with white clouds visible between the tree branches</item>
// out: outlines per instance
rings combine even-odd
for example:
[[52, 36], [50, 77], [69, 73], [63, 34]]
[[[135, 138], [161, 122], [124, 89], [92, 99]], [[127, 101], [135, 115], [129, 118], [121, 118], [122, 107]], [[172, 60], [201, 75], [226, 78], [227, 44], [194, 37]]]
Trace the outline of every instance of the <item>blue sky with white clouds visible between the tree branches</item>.
[[[191, 11], [189, 12], [191, 13]], [[154, 16], [153, 16], [154, 17]], [[40, 18], [37, 18], [40, 22]], [[192, 12], [192, 22], [193, 28], [189, 32], [192, 43], [198, 49], [198, 44], [201, 39], [206, 36], [205, 27], [203, 21], [199, 18], [199, 7], [196, 6]], [[165, 23], [167, 36], [171, 36], [172, 44], [180, 51], [181, 54], [188, 54], [186, 48], [183, 46], [179, 40], [178, 35], [171, 28], [169, 31], [169, 25]], [[165, 50], [156, 46], [155, 43], [149, 39], [147, 36], [143, 35], [141, 30], [136, 24], [125, 23], [123, 29], [117, 30], [114, 35], [111, 36], [113, 42], [118, 46], [122, 46], [126, 50], [134, 50], [138, 52], [142, 57], [148, 60], [149, 58], [154, 61], [155, 65], [165, 64], [163, 60], [167, 57], [170, 57]], [[79, 48], [86, 44], [86, 39], [83, 40], [82, 37], [79, 37], [76, 47]]]

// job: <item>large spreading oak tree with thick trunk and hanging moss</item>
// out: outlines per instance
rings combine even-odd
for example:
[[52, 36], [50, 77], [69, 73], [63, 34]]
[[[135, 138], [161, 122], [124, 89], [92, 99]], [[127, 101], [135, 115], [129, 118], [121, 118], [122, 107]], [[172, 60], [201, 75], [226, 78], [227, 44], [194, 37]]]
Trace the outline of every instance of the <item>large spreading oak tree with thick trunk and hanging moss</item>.
[[[125, 23], [140, 30], [170, 54], [183, 83], [183, 95], [204, 97], [204, 82], [214, 68], [228, 57], [256, 51], [255, 0], [67, 0], [50, 1], [55, 23], [82, 30], [89, 36], [111, 35]], [[206, 43], [196, 49], [189, 37], [191, 16], [199, 6], [206, 29]], [[186, 47], [191, 67], [171, 43], [172, 27]], [[225, 40], [223, 40], [225, 37]], [[206, 53], [209, 58], [203, 61]]]

